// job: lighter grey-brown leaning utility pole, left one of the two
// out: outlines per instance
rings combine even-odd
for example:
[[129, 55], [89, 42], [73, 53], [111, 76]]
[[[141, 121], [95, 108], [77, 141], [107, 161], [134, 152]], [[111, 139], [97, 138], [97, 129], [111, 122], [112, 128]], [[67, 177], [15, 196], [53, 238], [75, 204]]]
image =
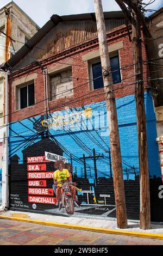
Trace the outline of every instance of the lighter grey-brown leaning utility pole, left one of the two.
[[120, 149], [120, 138], [118, 132], [117, 109], [112, 82], [108, 44], [106, 39], [106, 28], [101, 0], [94, 0], [97, 31], [99, 40], [99, 51], [103, 70], [104, 91], [106, 95], [106, 106], [109, 121], [110, 149], [112, 158], [114, 193], [116, 203], [116, 216], [118, 228], [127, 228], [126, 200], [124, 194], [124, 182], [122, 171], [122, 159]]

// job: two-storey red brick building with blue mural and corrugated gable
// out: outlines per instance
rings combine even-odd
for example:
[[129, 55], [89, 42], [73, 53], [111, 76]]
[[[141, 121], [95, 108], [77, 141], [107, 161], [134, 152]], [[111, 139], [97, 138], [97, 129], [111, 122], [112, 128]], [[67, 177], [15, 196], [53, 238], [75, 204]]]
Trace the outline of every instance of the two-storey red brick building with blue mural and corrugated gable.
[[[139, 219], [133, 46], [123, 12], [104, 13], [104, 17], [120, 130], [127, 215]], [[142, 51], [146, 60], [145, 45]], [[53, 162], [45, 159], [45, 152], [50, 152], [71, 163], [73, 180], [83, 190], [78, 191], [80, 208], [75, 214], [115, 217], [95, 14], [53, 15], [8, 64], [11, 71], [9, 112], [12, 113], [9, 115], [10, 209], [58, 214], [55, 194], [50, 194]], [[148, 66], [144, 65], [145, 80], [147, 76]], [[146, 90], [145, 104], [149, 172], [155, 191], [152, 203], [156, 204], [153, 210], [162, 207], [160, 201], [156, 203], [161, 170], [153, 99]], [[101, 157], [93, 161], [88, 158], [93, 154]], [[30, 172], [29, 164], [40, 167], [39, 172]], [[40, 194], [29, 190], [35, 186], [43, 186]], [[152, 211], [154, 221], [161, 218], [156, 212]]]

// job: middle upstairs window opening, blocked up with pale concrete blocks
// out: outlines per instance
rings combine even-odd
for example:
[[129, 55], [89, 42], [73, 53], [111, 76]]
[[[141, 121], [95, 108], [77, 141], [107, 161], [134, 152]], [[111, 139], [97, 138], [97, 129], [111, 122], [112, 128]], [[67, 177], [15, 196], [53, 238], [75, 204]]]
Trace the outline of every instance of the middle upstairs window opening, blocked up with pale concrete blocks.
[[72, 70], [66, 69], [50, 76], [51, 99], [61, 99], [73, 95]]

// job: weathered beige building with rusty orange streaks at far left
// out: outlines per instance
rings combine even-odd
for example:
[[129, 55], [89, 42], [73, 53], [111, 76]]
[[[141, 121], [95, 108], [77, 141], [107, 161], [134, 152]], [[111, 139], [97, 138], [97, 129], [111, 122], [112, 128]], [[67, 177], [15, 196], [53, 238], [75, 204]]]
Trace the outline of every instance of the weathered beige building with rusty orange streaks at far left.
[[[0, 64], [7, 62], [14, 54], [28, 42], [30, 38], [39, 30], [36, 23], [24, 13], [14, 2], [10, 2], [0, 9]], [[12, 40], [11, 40], [12, 39]], [[5, 104], [5, 76], [0, 71], [0, 170], [3, 174], [1, 185], [5, 178], [5, 129], [4, 125], [4, 104]], [[4, 186], [3, 186], [4, 187]], [[0, 204], [2, 204], [2, 187]]]

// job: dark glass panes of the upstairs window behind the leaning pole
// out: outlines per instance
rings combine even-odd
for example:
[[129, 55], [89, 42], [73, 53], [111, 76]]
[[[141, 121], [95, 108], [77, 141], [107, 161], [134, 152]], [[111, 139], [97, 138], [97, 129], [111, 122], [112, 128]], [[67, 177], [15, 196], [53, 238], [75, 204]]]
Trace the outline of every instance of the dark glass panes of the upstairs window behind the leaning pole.
[[[110, 58], [110, 65], [111, 65], [113, 83], [114, 84], [121, 83], [120, 62], [119, 62], [118, 56], [114, 56]], [[104, 87], [101, 62], [92, 64], [92, 79], [95, 79], [95, 78], [97, 79], [93, 81], [93, 89], [95, 90], [95, 89]]]

